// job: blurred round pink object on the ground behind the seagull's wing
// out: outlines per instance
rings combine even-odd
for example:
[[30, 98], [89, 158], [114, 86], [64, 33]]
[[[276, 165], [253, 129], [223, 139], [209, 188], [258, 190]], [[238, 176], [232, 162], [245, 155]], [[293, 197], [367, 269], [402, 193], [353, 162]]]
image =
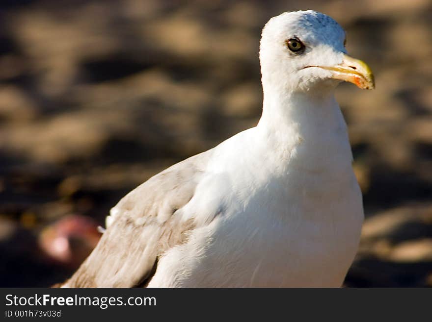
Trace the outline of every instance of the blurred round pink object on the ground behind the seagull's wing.
[[39, 236], [39, 245], [56, 261], [79, 265], [101, 237], [97, 227], [89, 217], [70, 215], [47, 226]]

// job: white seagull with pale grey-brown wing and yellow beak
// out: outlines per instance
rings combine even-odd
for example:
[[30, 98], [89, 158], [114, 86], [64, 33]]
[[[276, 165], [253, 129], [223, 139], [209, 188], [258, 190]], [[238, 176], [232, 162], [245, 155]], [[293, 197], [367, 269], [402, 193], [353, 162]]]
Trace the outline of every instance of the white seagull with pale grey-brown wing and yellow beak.
[[258, 124], [148, 179], [63, 287], [340, 287], [364, 213], [334, 90], [374, 88], [345, 31], [285, 12], [260, 42]]

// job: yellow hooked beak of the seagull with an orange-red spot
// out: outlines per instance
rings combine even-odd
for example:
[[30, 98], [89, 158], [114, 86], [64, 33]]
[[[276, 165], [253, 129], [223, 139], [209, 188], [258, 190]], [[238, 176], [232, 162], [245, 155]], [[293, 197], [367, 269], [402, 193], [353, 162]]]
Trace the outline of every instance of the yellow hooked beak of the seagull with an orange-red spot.
[[344, 54], [342, 64], [331, 67], [317, 66], [333, 72], [332, 78], [353, 83], [361, 89], [374, 89], [375, 80], [369, 66], [359, 60]]

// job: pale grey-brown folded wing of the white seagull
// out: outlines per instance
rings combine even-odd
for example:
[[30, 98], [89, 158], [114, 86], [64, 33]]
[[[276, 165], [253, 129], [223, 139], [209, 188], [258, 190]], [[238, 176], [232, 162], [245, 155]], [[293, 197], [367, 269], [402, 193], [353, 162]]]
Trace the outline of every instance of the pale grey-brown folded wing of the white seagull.
[[122, 198], [96, 248], [64, 284], [67, 287], [134, 287], [154, 274], [158, 256], [181, 244], [194, 228], [179, 209], [193, 197], [211, 150], [153, 176]]

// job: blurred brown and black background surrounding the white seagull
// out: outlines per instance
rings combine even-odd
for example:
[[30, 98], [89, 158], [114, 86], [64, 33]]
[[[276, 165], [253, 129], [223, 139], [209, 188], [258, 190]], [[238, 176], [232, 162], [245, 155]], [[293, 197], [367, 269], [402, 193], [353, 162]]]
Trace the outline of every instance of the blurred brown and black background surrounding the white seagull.
[[341, 84], [366, 212], [348, 287], [432, 286], [430, 0], [0, 2], [0, 286], [50, 286], [128, 191], [254, 126], [261, 29], [314, 9], [375, 91]]

